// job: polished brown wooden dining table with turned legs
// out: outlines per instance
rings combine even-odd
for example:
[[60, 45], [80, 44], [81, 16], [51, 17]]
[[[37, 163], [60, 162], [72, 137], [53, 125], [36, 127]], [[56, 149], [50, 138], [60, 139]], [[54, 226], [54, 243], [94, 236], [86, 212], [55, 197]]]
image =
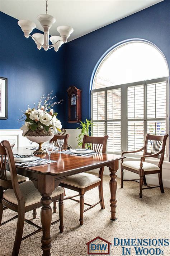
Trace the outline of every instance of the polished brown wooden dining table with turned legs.
[[[33, 150], [28, 150], [26, 147], [14, 148], [13, 153], [17, 154], [32, 154]], [[48, 159], [48, 155], [39, 155], [41, 158]], [[16, 167], [18, 174], [28, 177], [38, 189], [41, 194], [41, 223], [42, 223], [42, 255], [51, 255], [51, 221], [52, 221], [52, 209], [51, 209], [51, 194], [55, 188], [60, 185], [60, 182], [67, 176], [71, 176], [77, 173], [91, 171], [103, 166], [109, 167], [110, 171], [110, 220], [116, 220], [116, 172], [119, 168], [119, 160], [126, 158], [126, 156], [114, 155], [114, 154], [95, 154], [90, 156], [75, 156], [61, 153], [52, 153], [51, 160], [57, 160], [58, 162], [38, 165], [34, 167]], [[9, 169], [9, 166], [6, 166]], [[63, 238], [64, 239], [64, 238]]]

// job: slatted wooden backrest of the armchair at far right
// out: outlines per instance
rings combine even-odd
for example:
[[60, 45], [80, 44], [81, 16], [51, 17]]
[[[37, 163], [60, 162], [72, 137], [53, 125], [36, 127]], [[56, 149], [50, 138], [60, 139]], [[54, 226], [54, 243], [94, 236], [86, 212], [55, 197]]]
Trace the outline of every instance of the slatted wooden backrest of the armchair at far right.
[[[160, 159], [159, 161], [159, 167], [162, 166], [164, 162], [164, 155], [165, 155], [165, 146], [166, 146], [166, 140], [167, 140], [168, 134], [162, 135], [151, 135], [147, 133], [146, 140], [145, 140], [145, 150], [143, 152], [143, 155], [152, 155], [158, 153], [161, 149], [163, 149], [162, 153], [160, 153], [157, 156], [154, 156], [154, 158]], [[145, 161], [145, 159], [143, 159]]]

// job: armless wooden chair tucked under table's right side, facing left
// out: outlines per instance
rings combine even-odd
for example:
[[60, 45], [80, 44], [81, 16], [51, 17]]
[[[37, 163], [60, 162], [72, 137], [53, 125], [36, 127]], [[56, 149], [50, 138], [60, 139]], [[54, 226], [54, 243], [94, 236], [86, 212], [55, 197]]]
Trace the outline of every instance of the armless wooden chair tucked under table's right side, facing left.
[[[108, 135], [105, 135], [104, 137], [90, 137], [90, 136], [84, 135], [83, 142], [82, 142], [82, 149], [85, 149], [87, 147], [91, 150], [94, 150], [95, 152], [100, 152], [102, 148], [102, 153], [106, 153], [106, 145], [107, 145], [108, 137], [109, 137]], [[75, 160], [79, 161], [78, 158]], [[67, 177], [65, 180], [63, 180], [60, 183], [61, 187], [65, 187], [67, 189], [71, 189], [79, 192], [78, 195], [67, 197], [65, 199], [71, 199], [80, 203], [80, 225], [83, 225], [84, 212], [88, 211], [89, 209], [93, 208], [99, 203], [100, 203], [101, 209], [105, 208], [104, 198], [103, 198], [103, 171], [104, 171], [104, 167], [101, 167], [99, 170], [98, 177], [90, 173], [85, 173], [85, 172], [79, 173], [79, 174]], [[99, 202], [92, 205], [85, 203], [84, 194], [86, 193], [86, 191], [91, 190], [94, 187], [99, 187]], [[74, 197], [77, 197], [77, 196], [80, 196], [80, 201], [74, 199]], [[84, 210], [84, 204], [89, 206], [85, 210]]]

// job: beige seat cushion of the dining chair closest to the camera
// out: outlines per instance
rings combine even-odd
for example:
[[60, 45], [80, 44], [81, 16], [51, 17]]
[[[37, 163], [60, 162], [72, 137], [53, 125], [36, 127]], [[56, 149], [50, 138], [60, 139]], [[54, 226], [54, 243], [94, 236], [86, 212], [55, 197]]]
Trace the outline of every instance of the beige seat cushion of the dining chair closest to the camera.
[[[34, 187], [34, 184], [32, 181], [29, 180], [29, 181], [23, 182], [19, 184], [19, 187], [25, 199], [25, 207], [31, 204], [40, 202], [42, 197], [38, 192], [38, 190], [36, 189], [36, 187]], [[64, 189], [62, 187], [57, 187], [55, 191], [52, 193], [51, 197], [56, 197], [57, 195], [60, 195], [62, 193], [64, 193]], [[3, 199], [6, 199], [11, 203], [18, 204], [18, 201], [15, 197], [13, 189], [5, 190], [3, 194]]]

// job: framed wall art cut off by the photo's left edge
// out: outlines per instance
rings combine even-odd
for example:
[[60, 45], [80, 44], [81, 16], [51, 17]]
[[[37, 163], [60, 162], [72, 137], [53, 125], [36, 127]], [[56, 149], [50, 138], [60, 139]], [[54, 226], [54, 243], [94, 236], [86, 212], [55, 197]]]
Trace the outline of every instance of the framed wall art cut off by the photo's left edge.
[[7, 119], [7, 78], [0, 77], [0, 119]]

